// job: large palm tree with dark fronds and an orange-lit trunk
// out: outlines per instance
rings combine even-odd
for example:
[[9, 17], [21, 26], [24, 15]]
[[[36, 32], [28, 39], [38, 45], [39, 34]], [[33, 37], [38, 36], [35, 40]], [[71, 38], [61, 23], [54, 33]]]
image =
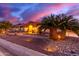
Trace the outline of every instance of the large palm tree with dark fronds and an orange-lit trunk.
[[[55, 40], [64, 39], [66, 30], [72, 30], [79, 35], [79, 23], [72, 15], [59, 14], [44, 17], [39, 27], [40, 30], [50, 30], [50, 38]], [[42, 31], [40, 31], [42, 32]]]

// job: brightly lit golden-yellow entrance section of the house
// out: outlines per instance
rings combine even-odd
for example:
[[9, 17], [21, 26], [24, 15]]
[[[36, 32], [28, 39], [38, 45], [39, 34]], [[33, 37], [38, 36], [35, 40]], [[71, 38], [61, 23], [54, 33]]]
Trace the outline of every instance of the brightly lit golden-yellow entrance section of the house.
[[26, 34], [38, 34], [39, 22], [28, 22], [24, 25], [24, 31]]

